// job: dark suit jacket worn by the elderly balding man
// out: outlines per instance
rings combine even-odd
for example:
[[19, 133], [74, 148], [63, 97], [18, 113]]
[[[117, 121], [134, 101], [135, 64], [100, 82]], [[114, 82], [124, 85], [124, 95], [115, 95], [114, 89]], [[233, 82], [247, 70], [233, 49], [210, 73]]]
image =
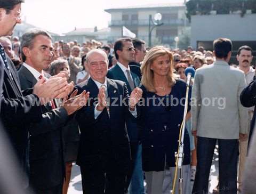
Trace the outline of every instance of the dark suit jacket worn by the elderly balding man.
[[[91, 78], [76, 85], [76, 88], [78, 93], [84, 90], [90, 92], [88, 105], [76, 114], [81, 130], [77, 164], [89, 171], [114, 168], [115, 172], [126, 173], [129, 171], [131, 151], [124, 123], [127, 117], [132, 117], [128, 106], [122, 104], [123, 99], [129, 98], [126, 84], [107, 79], [108, 97], [111, 98], [110, 118], [105, 108], [97, 119], [94, 119], [94, 108], [97, 104], [95, 98], [99, 90]], [[117, 106], [113, 104], [115, 99]]]

